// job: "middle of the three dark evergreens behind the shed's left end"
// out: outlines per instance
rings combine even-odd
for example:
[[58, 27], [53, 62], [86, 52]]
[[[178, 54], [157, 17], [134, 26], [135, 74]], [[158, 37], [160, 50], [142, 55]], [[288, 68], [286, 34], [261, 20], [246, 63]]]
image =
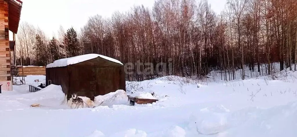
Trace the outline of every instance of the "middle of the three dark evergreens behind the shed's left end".
[[58, 41], [55, 37], [53, 37], [50, 40], [48, 47], [49, 47], [49, 52], [50, 52], [50, 62], [54, 62], [55, 60], [61, 59]]

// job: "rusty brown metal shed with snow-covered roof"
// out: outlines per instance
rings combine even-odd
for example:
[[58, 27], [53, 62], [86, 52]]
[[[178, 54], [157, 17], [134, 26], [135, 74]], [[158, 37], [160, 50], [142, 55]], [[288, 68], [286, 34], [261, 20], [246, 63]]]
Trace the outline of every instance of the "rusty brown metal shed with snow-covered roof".
[[71, 94], [94, 97], [114, 92], [126, 91], [124, 65], [107, 56], [86, 54], [59, 59], [46, 66], [46, 85], [61, 85], [70, 99]]

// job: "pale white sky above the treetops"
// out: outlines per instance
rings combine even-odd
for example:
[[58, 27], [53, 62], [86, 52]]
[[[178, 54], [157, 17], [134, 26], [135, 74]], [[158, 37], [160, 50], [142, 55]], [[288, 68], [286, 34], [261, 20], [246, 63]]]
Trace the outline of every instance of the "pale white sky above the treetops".
[[[133, 5], [152, 8], [154, 0], [21, 0], [20, 23], [26, 21], [39, 27], [48, 37], [57, 35], [60, 25], [80, 30], [92, 15], [110, 17], [113, 12], [125, 12]], [[208, 0], [211, 8], [219, 14], [226, 0]]]

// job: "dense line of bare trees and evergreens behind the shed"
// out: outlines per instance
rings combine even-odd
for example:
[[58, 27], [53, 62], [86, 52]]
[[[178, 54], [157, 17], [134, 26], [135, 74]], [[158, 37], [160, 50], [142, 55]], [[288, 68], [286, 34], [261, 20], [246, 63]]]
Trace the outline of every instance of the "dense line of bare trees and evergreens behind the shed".
[[[123, 63], [173, 64], [173, 74], [202, 79], [217, 70], [222, 79], [245, 79], [246, 70], [266, 75], [279, 70], [296, 71], [297, 1], [228, 0], [216, 14], [207, 0], [156, 0], [152, 8], [134, 6], [110, 18], [89, 17], [75, 31], [63, 27], [48, 39], [39, 28], [20, 24], [17, 64], [46, 65], [57, 59], [98, 53]], [[247, 66], [247, 67], [246, 67]], [[141, 66], [140, 70], [145, 70]], [[256, 67], [256, 70], [255, 70]], [[142, 81], [166, 73], [127, 75]], [[236, 75], [241, 70], [241, 75]]]

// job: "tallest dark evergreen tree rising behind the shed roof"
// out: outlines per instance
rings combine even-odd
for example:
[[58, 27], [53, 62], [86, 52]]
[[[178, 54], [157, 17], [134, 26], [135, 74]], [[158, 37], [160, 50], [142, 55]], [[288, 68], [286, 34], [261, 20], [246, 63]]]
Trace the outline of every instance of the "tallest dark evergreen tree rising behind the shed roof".
[[80, 54], [80, 44], [78, 41], [77, 33], [71, 27], [67, 30], [67, 33], [64, 37], [64, 45], [66, 45], [66, 56], [73, 57]]

